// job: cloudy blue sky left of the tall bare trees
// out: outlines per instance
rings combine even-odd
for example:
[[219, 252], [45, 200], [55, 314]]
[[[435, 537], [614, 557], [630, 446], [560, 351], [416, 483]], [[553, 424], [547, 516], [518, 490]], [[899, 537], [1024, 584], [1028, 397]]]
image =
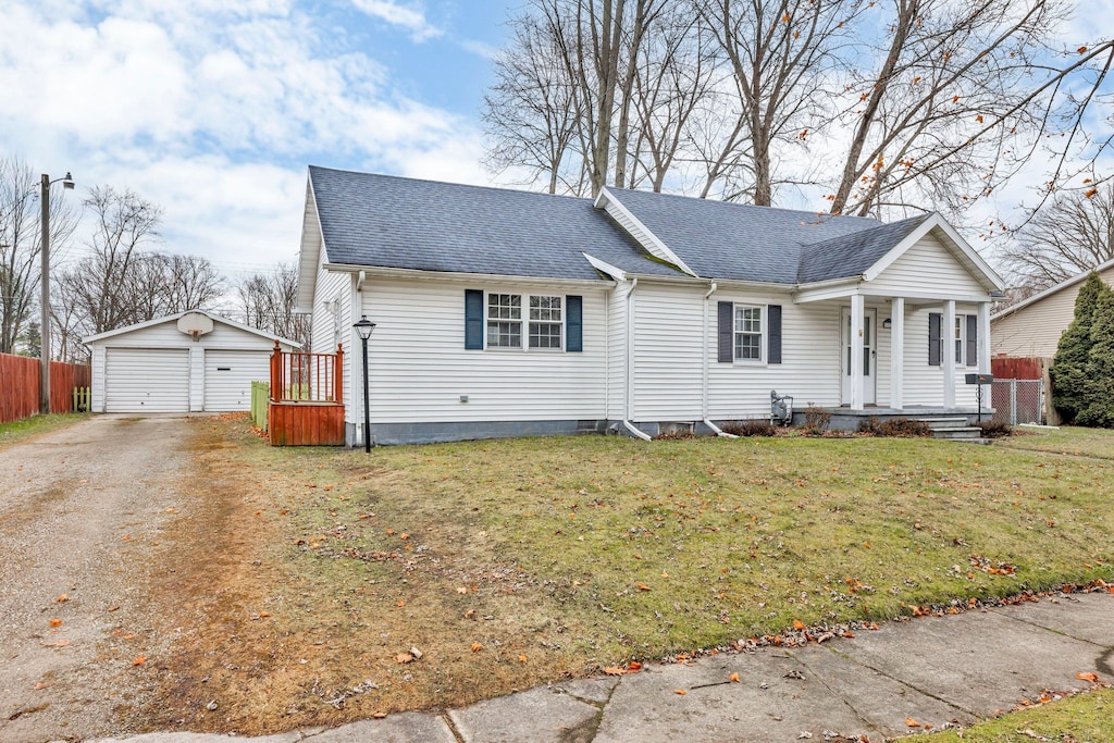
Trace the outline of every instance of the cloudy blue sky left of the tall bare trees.
[[133, 188], [163, 250], [238, 277], [295, 257], [309, 164], [489, 183], [478, 107], [514, 8], [6, 0], [0, 155], [72, 172], [75, 202]]

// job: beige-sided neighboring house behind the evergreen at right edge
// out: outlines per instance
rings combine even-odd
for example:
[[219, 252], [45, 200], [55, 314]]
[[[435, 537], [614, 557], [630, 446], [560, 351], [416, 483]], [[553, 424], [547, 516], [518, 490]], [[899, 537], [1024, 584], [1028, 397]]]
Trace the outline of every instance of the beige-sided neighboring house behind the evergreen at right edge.
[[[1107, 284], [1114, 285], [1114, 261], [1095, 271]], [[1039, 294], [1013, 304], [990, 317], [996, 356], [1052, 359], [1056, 355], [1059, 336], [1075, 319], [1075, 297], [1091, 275], [1085, 271]]]

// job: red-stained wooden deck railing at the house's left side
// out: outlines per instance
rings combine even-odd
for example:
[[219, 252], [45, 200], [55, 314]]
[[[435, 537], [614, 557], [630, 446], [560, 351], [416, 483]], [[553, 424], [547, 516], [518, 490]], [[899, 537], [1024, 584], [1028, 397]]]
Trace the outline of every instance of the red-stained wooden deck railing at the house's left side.
[[344, 351], [271, 354], [267, 437], [274, 447], [344, 443]]

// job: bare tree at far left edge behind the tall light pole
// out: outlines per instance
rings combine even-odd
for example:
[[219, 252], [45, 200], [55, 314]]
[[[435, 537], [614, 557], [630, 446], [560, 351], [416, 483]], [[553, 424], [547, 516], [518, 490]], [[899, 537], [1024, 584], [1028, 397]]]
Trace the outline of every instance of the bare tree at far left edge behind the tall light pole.
[[[0, 158], [0, 353], [16, 351], [38, 301], [40, 190], [31, 166], [14, 156]], [[51, 189], [51, 245], [63, 247], [76, 226], [75, 211]]]

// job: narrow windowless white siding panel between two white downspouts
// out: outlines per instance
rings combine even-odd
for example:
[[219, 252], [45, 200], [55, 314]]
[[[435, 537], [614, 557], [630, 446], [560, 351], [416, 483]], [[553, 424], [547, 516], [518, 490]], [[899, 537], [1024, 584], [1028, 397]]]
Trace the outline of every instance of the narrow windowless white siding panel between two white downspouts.
[[703, 286], [635, 290], [635, 422], [695, 421], [703, 397]]

